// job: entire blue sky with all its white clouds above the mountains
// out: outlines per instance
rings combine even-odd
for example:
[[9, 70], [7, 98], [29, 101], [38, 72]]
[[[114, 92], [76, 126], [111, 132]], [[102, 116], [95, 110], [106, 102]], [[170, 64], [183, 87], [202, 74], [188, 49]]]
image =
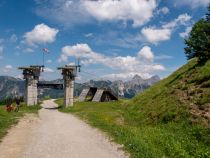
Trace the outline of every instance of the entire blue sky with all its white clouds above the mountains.
[[166, 77], [187, 62], [184, 39], [210, 0], [0, 0], [0, 75], [42, 64], [42, 78], [80, 58], [77, 78]]

